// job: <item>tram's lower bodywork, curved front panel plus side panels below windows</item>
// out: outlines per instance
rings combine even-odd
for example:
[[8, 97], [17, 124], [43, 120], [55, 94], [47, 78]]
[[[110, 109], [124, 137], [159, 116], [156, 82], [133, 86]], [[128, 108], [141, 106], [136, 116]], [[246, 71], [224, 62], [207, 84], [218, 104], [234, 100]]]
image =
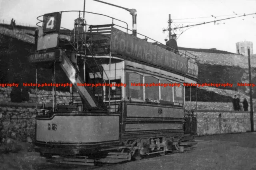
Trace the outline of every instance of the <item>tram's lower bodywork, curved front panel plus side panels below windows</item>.
[[50, 150], [97, 150], [122, 146], [128, 141], [139, 143], [139, 139], [147, 140], [150, 137], [174, 140], [184, 135], [183, 108], [128, 102], [122, 105], [123, 112], [73, 111], [38, 116], [36, 145]]

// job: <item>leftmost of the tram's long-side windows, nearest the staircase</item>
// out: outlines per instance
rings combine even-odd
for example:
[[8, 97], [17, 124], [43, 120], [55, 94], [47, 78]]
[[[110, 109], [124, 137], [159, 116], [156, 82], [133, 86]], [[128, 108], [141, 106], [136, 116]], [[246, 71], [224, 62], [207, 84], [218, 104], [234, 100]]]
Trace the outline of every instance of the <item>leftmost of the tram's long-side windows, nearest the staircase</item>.
[[143, 76], [135, 72], [126, 72], [126, 99], [143, 100], [143, 86], [132, 86], [131, 83], [143, 83]]

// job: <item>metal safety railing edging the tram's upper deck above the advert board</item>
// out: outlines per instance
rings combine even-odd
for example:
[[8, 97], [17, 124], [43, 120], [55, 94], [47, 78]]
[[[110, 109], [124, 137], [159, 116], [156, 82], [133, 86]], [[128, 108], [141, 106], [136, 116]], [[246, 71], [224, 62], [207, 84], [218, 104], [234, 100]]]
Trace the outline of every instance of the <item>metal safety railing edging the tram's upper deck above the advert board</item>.
[[[78, 13], [79, 13], [79, 17], [78, 17], [78, 18], [81, 18], [81, 17], [80, 17], [80, 13], [82, 13], [82, 12], [87, 13], [87, 14], [95, 14], [95, 15], [98, 15], [98, 16], [104, 16], [104, 17], [107, 17], [107, 18], [112, 19], [112, 24], [114, 24], [114, 26], [117, 26], [117, 27], [120, 27], [120, 28], [124, 29], [124, 31], [126, 31], [126, 33], [128, 33], [128, 31], [130, 31], [131, 34], [134, 33], [134, 31], [132, 31], [131, 29], [128, 29], [128, 23], [127, 23], [127, 22], [122, 21], [122, 20], [118, 20], [118, 19], [116, 19], [116, 18], [107, 16], [107, 15], [104, 15], [104, 14], [99, 14], [99, 13], [95, 13], [95, 12], [80, 11], [80, 10], [68, 10], [68, 11], [60, 11], [60, 12], [55, 12], [55, 13], [61, 13], [61, 14], [62, 14], [62, 13], [66, 13], [66, 12], [78, 12]], [[39, 22], [36, 23], [36, 25], [37, 25], [38, 27], [42, 27], [42, 26], [40, 26], [40, 25], [38, 25], [38, 24], [40, 24], [40, 23], [43, 22], [43, 20], [40, 20], [40, 19], [39, 19], [40, 17], [43, 17], [43, 16], [44, 16], [44, 15], [37, 17], [37, 20], [38, 20]], [[126, 27], [121, 26], [121, 25], [118, 25], [117, 23], [114, 23], [114, 21], [119, 21], [119, 22], [121, 22], [121, 23], [124, 23], [124, 24], [126, 25]], [[90, 24], [88, 24], [88, 23], [86, 23], [86, 25], [87, 25], [87, 26], [92, 26], [92, 24], [90, 25]], [[70, 33], [71, 33], [71, 30], [70, 30], [70, 29], [67, 29], [67, 28], [65, 28], [65, 27], [60, 27], [60, 28], [66, 29], [66, 30], [70, 31]], [[87, 31], [87, 30], [86, 30], [86, 31]], [[100, 33], [100, 32], [99, 32], [99, 33]], [[175, 50], [175, 49], [173, 49], [173, 48], [171, 48], [171, 47], [169, 47], [169, 46], [167, 46], [167, 45], [164, 45], [164, 44], [160, 43], [159, 41], [156, 41], [156, 40], [154, 40], [154, 39], [152, 39], [152, 38], [150, 38], [150, 37], [148, 37], [148, 36], [146, 36], [146, 35], [143, 35], [143, 34], [138, 33], [138, 32], [136, 32], [136, 33], [137, 33], [137, 35], [140, 35], [140, 37], [138, 37], [138, 38], [140, 38], [140, 39], [144, 39], [144, 40], [146, 40], [146, 41], [147, 41], [148, 39], [150, 39], [150, 40], [154, 41], [154, 42], [150, 42], [150, 43], [153, 43], [153, 44], [155, 44], [155, 45], [158, 45], [158, 46], [160, 46], [160, 47], [162, 47], [162, 48], [165, 47], [165, 49], [168, 47], [169, 49], [172, 49], [173, 51], [177, 51], [177, 50]], [[84, 33], [84, 34], [86, 34], [86, 33]], [[109, 37], [109, 38], [110, 38], [110, 37]], [[182, 53], [182, 52], [180, 52], [180, 51], [177, 51], [177, 52], [178, 52], [179, 54], [181, 54], [181, 55], [180, 55], [181, 57], [184, 57], [184, 58], [186, 58], [186, 59], [188, 59], [188, 60], [191, 60], [191, 61], [194, 61], [195, 63], [198, 63], [198, 57], [197, 57], [196, 55], [193, 55], [192, 53], [189, 53], [188, 51], [185, 51], [185, 53]], [[188, 55], [187, 53], [188, 53], [189, 55]]]

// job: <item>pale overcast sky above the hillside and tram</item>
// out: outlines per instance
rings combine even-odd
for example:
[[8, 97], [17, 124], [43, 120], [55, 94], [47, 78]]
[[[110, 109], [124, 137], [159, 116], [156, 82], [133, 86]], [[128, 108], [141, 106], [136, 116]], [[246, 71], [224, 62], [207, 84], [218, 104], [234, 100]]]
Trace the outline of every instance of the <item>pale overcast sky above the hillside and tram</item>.
[[[179, 47], [210, 49], [236, 53], [236, 43], [251, 41], [256, 53], [256, 0], [102, 0], [124, 8], [137, 10], [137, 32], [165, 44], [168, 31], [168, 15], [171, 14], [175, 24], [192, 25], [207, 21], [220, 20], [243, 14], [251, 14], [225, 21], [208, 23], [183, 29], [178, 37]], [[0, 0], [0, 22], [10, 21], [26, 23], [32, 26], [38, 22], [38, 16], [58, 11], [83, 10], [84, 0]], [[128, 28], [132, 29], [132, 16], [128, 11], [102, 4], [93, 0], [86, 0], [86, 11], [105, 14], [113, 18], [126, 21]], [[236, 13], [237, 15], [235, 15]], [[214, 17], [212, 17], [214, 16]], [[221, 17], [222, 16], [222, 17]], [[216, 17], [216, 18], [215, 18]], [[254, 17], [254, 18], [253, 18]], [[78, 12], [62, 14], [62, 27], [72, 29]], [[190, 18], [187, 20], [179, 20]], [[192, 19], [196, 18], [196, 19]], [[100, 25], [112, 23], [112, 20], [85, 14], [88, 24]], [[117, 25], [123, 23], [114, 21]], [[219, 24], [217, 24], [219, 23]], [[177, 35], [181, 33], [176, 32]], [[138, 36], [140, 37], [140, 36]], [[142, 38], [142, 37], [141, 37]]]

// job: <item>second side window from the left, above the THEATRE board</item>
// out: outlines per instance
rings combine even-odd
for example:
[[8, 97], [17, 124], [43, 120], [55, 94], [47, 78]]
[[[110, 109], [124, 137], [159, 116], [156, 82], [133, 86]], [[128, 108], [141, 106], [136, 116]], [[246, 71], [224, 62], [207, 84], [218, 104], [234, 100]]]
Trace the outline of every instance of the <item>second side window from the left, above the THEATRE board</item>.
[[151, 87], [145, 87], [145, 99], [159, 100], [159, 80], [153, 76], [145, 76], [145, 83], [152, 84]]

